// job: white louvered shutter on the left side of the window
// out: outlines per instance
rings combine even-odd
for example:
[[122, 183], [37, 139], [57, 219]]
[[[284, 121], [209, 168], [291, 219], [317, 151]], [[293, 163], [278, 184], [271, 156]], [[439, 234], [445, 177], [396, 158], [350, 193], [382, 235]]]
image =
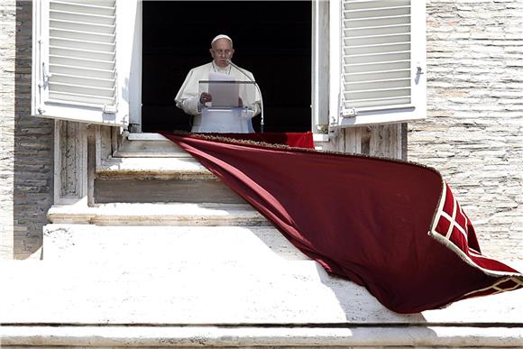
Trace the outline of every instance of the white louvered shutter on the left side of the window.
[[118, 110], [116, 0], [42, 0], [33, 5], [32, 114], [126, 124], [128, 117]]

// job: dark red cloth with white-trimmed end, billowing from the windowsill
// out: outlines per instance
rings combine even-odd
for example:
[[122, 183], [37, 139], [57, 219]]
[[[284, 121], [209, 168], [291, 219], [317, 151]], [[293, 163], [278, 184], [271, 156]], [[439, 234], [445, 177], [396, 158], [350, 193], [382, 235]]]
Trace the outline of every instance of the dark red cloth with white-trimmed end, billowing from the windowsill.
[[523, 284], [518, 271], [481, 255], [470, 220], [436, 170], [163, 134], [300, 251], [326, 271], [366, 287], [393, 311], [440, 308]]

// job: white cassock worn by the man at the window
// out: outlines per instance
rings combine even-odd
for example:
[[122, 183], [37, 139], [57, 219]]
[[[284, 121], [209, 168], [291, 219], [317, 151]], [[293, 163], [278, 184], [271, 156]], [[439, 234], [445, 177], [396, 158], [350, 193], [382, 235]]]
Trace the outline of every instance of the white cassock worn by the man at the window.
[[188, 115], [194, 115], [193, 125], [191, 132], [215, 132], [215, 133], [252, 133], [252, 117], [260, 114], [261, 111], [261, 96], [258, 89], [251, 85], [254, 89], [246, 91], [245, 88], [240, 89], [240, 97], [243, 101], [243, 111], [241, 117], [237, 117], [234, 121], [230, 118], [224, 118], [224, 122], [220, 124], [213, 124], [211, 128], [202, 124], [202, 108], [203, 106], [199, 103], [200, 91], [199, 81], [208, 80], [210, 72], [218, 72], [227, 74], [234, 78], [235, 81], [254, 81], [252, 73], [248, 70], [243, 69], [243, 72], [252, 78], [247, 78], [242, 71], [234, 68], [232, 65], [228, 65], [225, 68], [220, 68], [210, 62], [191, 69], [188, 72], [187, 78], [183, 82], [183, 85], [179, 88], [178, 95], [174, 98], [176, 106], [183, 109]]

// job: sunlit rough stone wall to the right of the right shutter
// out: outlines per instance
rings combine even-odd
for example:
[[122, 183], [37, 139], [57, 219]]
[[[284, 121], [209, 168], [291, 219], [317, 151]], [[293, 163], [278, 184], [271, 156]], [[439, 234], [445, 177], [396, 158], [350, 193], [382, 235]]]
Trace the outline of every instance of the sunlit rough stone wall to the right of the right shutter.
[[504, 259], [523, 259], [522, 11], [427, 0], [428, 118], [408, 125], [408, 159], [442, 172], [484, 252]]

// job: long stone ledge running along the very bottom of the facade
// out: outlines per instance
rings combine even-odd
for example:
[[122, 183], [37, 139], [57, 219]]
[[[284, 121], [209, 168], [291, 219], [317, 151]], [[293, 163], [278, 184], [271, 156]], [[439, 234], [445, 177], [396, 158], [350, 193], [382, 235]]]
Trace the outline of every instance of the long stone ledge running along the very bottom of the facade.
[[3, 346], [519, 347], [520, 327], [2, 326]]

